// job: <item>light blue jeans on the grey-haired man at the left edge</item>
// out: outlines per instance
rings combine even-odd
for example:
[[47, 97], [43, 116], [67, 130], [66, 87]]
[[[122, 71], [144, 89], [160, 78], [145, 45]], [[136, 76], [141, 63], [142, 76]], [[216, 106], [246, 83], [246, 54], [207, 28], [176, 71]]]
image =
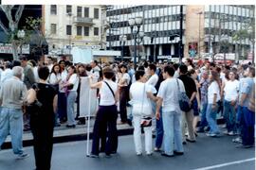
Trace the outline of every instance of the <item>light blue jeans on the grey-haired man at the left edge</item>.
[[11, 136], [11, 145], [14, 154], [23, 154], [23, 112], [22, 110], [2, 108], [0, 112], [0, 147]]

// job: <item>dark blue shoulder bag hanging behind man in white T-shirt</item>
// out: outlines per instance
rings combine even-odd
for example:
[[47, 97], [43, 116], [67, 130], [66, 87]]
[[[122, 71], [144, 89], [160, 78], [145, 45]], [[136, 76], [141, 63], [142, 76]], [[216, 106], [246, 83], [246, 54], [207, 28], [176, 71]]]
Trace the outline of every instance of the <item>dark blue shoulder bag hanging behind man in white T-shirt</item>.
[[177, 79], [176, 79], [176, 82], [177, 82], [177, 86], [178, 86], [178, 104], [179, 104], [179, 108], [180, 108], [180, 110], [188, 112], [189, 110], [191, 110], [190, 99], [189, 99], [188, 95], [185, 92], [180, 91], [179, 83], [178, 83]]

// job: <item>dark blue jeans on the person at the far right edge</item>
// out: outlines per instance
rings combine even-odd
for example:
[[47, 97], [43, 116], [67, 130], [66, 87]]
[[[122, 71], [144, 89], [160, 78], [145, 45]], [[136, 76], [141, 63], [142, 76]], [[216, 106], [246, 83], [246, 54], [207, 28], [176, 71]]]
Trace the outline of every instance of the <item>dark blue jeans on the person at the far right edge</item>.
[[241, 125], [242, 144], [254, 144], [255, 112], [248, 110], [246, 107], [243, 107]]

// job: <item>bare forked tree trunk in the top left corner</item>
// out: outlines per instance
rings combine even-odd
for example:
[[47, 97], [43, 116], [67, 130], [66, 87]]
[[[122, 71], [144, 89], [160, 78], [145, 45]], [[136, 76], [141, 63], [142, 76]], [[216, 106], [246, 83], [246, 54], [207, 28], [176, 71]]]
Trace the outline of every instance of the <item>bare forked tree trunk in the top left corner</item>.
[[5, 6], [0, 6], [2, 10], [4, 11], [8, 21], [9, 21], [9, 26], [5, 26], [1, 19], [0, 19], [0, 26], [4, 30], [4, 32], [9, 36], [9, 41], [11, 42], [12, 45], [12, 56], [13, 59], [18, 59], [18, 45], [21, 43], [19, 39], [17, 39], [17, 32], [18, 32], [18, 24], [21, 19], [23, 10], [25, 8], [24, 5], [18, 6], [18, 8], [14, 12], [14, 17], [12, 15], [12, 11], [15, 9], [14, 5], [5, 5]]

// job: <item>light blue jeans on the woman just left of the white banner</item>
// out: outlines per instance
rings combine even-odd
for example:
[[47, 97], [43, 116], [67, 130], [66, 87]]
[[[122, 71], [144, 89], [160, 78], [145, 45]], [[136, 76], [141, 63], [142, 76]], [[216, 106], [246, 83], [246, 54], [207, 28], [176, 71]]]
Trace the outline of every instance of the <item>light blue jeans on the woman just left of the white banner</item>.
[[77, 99], [77, 92], [70, 91], [66, 99], [67, 125], [76, 125], [74, 104]]

